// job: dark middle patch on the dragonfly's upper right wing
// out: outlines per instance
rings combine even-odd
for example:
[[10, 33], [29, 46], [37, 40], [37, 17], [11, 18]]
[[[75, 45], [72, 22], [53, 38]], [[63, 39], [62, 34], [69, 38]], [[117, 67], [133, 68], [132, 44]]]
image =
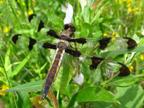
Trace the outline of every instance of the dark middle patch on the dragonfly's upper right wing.
[[99, 49], [104, 50], [107, 47], [110, 40], [111, 40], [111, 37], [104, 37], [104, 38], [100, 39], [98, 41], [99, 42]]

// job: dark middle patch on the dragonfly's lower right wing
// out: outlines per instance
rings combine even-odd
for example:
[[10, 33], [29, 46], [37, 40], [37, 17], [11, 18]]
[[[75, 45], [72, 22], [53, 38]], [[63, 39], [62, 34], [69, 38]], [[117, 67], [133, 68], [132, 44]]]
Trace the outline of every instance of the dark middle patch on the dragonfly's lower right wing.
[[104, 60], [104, 59], [103, 59], [103, 58], [100, 58], [100, 57], [96, 57], [96, 56], [91, 57], [92, 64], [90, 65], [90, 69], [91, 69], [91, 70], [96, 69], [97, 66], [98, 66], [103, 60]]

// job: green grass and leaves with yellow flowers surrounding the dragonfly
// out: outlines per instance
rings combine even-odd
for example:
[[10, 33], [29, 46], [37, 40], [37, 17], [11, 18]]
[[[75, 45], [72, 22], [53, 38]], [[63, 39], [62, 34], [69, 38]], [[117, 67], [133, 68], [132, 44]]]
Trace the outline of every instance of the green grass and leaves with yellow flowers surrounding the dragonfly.
[[[144, 107], [144, 1], [80, 1], [0, 0], [0, 108], [57, 106], [55, 99], [42, 101], [39, 98], [55, 54], [55, 51], [45, 50], [41, 46], [46, 41], [56, 42], [47, 37], [45, 32], [51, 28], [60, 33], [63, 29], [65, 14], [61, 11], [61, 6], [66, 2], [74, 7], [75, 37], [85, 37], [93, 43], [89, 45], [92, 47], [76, 47], [85, 55], [99, 54], [126, 64], [131, 75], [109, 78], [101, 74], [108, 71], [107, 66], [99, 66], [95, 71], [90, 71], [89, 61], [80, 62], [77, 58], [66, 55], [51, 87], [59, 107]], [[37, 17], [28, 22], [28, 16], [32, 13]], [[40, 20], [44, 21], [45, 28], [37, 33]], [[23, 36], [15, 45], [11, 38], [17, 33]], [[27, 48], [30, 36], [38, 42], [32, 51]], [[101, 55], [95, 46], [102, 36], [128, 36], [136, 40], [138, 46], [127, 51], [113, 45]], [[121, 54], [123, 56], [117, 58]], [[73, 81], [73, 77], [81, 72], [85, 79], [80, 86]]]

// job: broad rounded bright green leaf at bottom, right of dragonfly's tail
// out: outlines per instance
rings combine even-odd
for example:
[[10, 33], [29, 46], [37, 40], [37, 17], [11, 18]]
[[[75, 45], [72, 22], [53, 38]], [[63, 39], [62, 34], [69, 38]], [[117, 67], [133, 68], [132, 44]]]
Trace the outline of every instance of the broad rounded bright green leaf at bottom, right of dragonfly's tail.
[[81, 89], [76, 100], [78, 102], [116, 102], [112, 93], [100, 87], [87, 87]]

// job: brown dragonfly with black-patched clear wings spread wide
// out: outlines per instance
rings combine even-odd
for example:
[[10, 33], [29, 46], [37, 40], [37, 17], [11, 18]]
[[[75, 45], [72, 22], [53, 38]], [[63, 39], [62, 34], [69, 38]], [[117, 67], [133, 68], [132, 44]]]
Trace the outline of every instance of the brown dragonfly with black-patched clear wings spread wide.
[[[77, 44], [84, 45], [84, 44], [87, 44], [87, 42], [88, 42], [88, 39], [83, 38], [83, 37], [73, 38], [76, 29], [75, 29], [74, 25], [72, 24], [73, 8], [70, 4], [67, 4], [67, 8], [66, 8], [65, 12], [66, 12], [66, 16], [64, 19], [64, 27], [63, 27], [62, 32], [60, 34], [57, 34], [57, 32], [55, 32], [55, 30], [53, 30], [53, 29], [50, 29], [47, 31], [48, 36], [59, 40], [58, 43], [51, 44], [49, 42], [44, 42], [42, 45], [42, 47], [45, 49], [56, 50], [52, 65], [49, 68], [47, 77], [45, 79], [42, 98], [45, 98], [47, 96], [49, 89], [50, 89], [52, 83], [54, 82], [56, 73], [61, 66], [64, 54], [68, 53], [69, 55], [72, 55], [73, 57], [77, 57], [77, 58], [80, 58], [81, 56], [83, 56], [83, 54], [80, 51], [71, 48], [70, 43], [77, 43]], [[33, 19], [33, 17], [35, 17], [35, 16], [36, 16], [35, 14], [31, 15], [28, 18], [29, 21], [31, 21]], [[44, 28], [44, 23], [43, 23], [43, 21], [40, 21], [37, 32], [40, 32], [42, 28]], [[12, 41], [14, 44], [17, 43], [17, 40], [19, 39], [19, 37], [21, 35], [22, 34], [15, 34], [12, 36]], [[124, 37], [123, 39], [126, 40], [128, 49], [133, 49], [137, 46], [136, 41], [133, 40], [132, 38]], [[100, 50], [106, 49], [107, 46], [109, 45], [109, 43], [111, 42], [111, 40], [112, 40], [111, 37], [103, 37], [103, 38], [99, 39], [97, 41], [99, 44], [98, 48]], [[32, 50], [33, 46], [36, 43], [37, 43], [37, 41], [35, 39], [33, 39], [32, 37], [30, 37], [29, 45], [28, 45], [29, 50]], [[91, 64], [89, 65], [89, 68], [91, 70], [97, 69], [97, 67], [105, 60], [105, 58], [95, 56], [95, 55], [89, 57], [89, 59], [91, 60]], [[125, 64], [120, 63], [120, 62], [116, 62], [116, 63], [120, 66], [118, 76], [127, 76], [130, 74], [130, 70]]]

